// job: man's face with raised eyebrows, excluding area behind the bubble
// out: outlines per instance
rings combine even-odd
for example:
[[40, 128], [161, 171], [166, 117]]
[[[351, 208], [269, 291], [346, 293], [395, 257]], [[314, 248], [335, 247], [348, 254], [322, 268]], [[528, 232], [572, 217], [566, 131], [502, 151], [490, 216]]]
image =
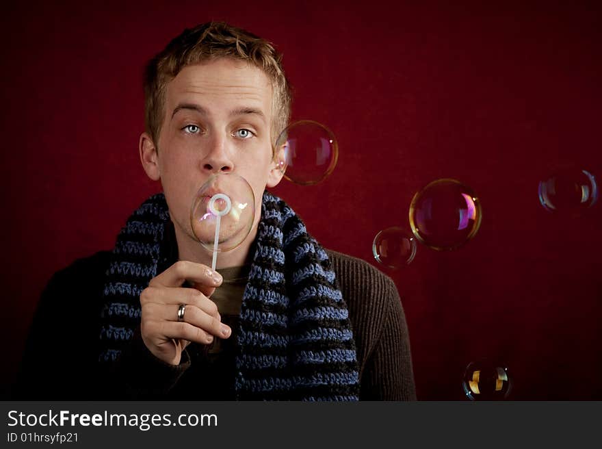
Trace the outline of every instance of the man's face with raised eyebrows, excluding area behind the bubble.
[[176, 235], [194, 240], [192, 201], [216, 173], [250, 184], [254, 231], [265, 186], [282, 176], [272, 157], [272, 86], [265, 73], [228, 58], [186, 66], [167, 85], [164, 109], [156, 165]]

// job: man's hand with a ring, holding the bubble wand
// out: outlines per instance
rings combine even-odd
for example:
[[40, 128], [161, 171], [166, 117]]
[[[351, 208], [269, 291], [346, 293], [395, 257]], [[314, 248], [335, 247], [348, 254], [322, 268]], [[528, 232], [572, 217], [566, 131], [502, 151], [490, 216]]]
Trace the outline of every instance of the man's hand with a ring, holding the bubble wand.
[[[182, 287], [184, 281], [193, 288]], [[222, 283], [211, 268], [178, 261], [150, 280], [140, 294], [142, 340], [155, 357], [179, 365], [190, 342], [209, 344], [213, 337], [228, 338], [232, 330], [222, 324], [218, 306], [209, 296]], [[184, 320], [178, 321], [179, 305], [185, 304]]]

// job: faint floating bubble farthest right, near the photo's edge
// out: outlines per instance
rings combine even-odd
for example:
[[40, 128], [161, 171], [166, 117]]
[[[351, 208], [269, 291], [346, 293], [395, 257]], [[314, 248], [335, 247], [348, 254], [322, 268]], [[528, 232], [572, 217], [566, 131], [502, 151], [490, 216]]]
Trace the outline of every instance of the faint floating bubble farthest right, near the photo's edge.
[[587, 170], [564, 168], [540, 181], [538, 194], [547, 211], [580, 211], [596, 203], [598, 185]]

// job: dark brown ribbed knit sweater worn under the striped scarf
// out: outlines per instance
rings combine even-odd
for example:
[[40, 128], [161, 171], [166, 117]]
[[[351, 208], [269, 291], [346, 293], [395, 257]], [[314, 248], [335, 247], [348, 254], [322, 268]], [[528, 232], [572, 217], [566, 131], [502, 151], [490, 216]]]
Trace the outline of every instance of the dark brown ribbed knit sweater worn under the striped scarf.
[[[327, 252], [349, 309], [360, 400], [415, 400], [408, 327], [395, 284], [361, 259]], [[109, 255], [79, 259], [52, 277], [31, 324], [12, 398], [233, 399], [234, 336], [217, 358], [190, 344], [174, 367], [146, 349], [138, 329], [120, 363], [112, 372], [103, 370], [98, 329]]]

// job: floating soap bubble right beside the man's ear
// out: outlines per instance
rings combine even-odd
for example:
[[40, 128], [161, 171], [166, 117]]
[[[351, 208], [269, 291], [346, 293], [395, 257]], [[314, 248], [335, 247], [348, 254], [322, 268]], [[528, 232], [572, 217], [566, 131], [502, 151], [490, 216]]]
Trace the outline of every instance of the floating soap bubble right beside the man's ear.
[[276, 149], [284, 146], [285, 178], [301, 185], [324, 181], [335, 170], [339, 159], [339, 144], [335, 135], [313, 120], [291, 123], [276, 140]]

